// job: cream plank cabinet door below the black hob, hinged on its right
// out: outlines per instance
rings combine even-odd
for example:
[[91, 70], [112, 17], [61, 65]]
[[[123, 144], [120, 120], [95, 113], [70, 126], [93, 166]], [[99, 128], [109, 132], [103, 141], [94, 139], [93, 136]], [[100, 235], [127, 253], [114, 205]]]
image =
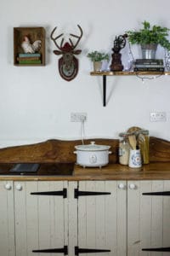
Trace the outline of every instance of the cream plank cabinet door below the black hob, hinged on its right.
[[54, 251], [42, 250], [61, 249], [67, 245], [67, 199], [62, 195], [41, 194], [63, 191], [66, 187], [66, 182], [14, 182], [17, 256], [56, 255]]

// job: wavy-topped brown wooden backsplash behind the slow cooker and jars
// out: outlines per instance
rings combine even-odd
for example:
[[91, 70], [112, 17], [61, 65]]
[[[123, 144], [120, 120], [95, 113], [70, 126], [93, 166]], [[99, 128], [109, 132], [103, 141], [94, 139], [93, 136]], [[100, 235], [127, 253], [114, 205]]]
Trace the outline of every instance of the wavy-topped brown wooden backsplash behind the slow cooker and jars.
[[[110, 163], [118, 163], [117, 139], [90, 139], [85, 140], [88, 144], [95, 141], [96, 144], [110, 145]], [[24, 162], [76, 162], [75, 146], [82, 144], [82, 141], [61, 141], [48, 140], [43, 143], [36, 143], [24, 146], [15, 146], [0, 149], [0, 163], [24, 163]], [[150, 162], [170, 161], [170, 142], [150, 137]]]

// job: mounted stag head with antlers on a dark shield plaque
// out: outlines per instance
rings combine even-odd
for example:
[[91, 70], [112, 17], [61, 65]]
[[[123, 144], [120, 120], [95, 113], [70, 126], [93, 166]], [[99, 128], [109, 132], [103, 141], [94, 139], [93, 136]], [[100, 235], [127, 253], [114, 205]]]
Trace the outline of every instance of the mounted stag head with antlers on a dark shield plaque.
[[73, 44], [71, 38], [69, 38], [70, 43], [66, 42], [64, 45], [64, 38], [61, 39], [60, 46], [57, 44], [57, 39], [62, 37], [63, 34], [60, 34], [56, 38], [54, 38], [54, 32], [56, 30], [56, 26], [54, 30], [51, 32], [51, 39], [54, 41], [54, 44], [59, 50], [54, 50], [55, 55], [62, 55], [59, 59], [59, 74], [60, 76], [65, 79], [66, 81], [71, 81], [77, 76], [78, 73], [78, 60], [74, 55], [79, 55], [82, 50], [75, 49], [77, 44], [80, 42], [82, 38], [82, 28], [81, 26], [77, 25], [81, 34], [80, 36], [70, 34], [71, 37], [77, 38], [77, 43]]

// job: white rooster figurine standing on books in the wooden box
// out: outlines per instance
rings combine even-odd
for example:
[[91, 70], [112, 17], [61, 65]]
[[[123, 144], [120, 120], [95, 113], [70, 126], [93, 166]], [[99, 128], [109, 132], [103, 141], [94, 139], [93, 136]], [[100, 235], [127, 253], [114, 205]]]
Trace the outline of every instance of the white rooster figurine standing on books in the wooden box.
[[25, 36], [21, 44], [21, 47], [24, 50], [24, 53], [30, 53], [30, 54], [38, 52], [38, 50], [41, 49], [41, 46], [42, 46], [41, 40], [36, 40], [31, 44], [29, 36]]

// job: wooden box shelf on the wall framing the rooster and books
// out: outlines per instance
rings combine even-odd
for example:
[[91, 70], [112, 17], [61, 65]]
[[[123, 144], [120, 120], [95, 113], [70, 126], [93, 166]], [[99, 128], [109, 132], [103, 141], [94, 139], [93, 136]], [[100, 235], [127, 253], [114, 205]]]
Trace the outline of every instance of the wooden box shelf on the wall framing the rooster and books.
[[[23, 49], [21, 48], [21, 43], [25, 36], [29, 36], [31, 39], [31, 44], [36, 40], [42, 41], [41, 49], [38, 53], [41, 55], [41, 63], [37, 64], [20, 64], [17, 58], [19, 54], [23, 54]], [[14, 66], [22, 67], [38, 67], [45, 66], [45, 29], [39, 26], [32, 27], [14, 27]]]

